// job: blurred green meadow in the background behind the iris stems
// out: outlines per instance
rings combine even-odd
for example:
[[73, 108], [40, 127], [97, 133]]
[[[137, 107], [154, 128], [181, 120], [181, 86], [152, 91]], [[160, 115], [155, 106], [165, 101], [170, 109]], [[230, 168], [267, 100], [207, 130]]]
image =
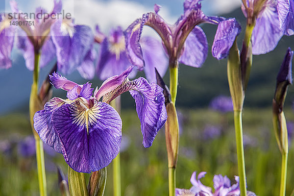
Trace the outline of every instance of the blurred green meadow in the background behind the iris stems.
[[[180, 155], [177, 166], [178, 188], [190, 188], [192, 172], [206, 171], [201, 181], [212, 186], [214, 174], [227, 175], [233, 182], [237, 175], [233, 114], [221, 114], [209, 109], [180, 110]], [[285, 108], [287, 120], [294, 121], [291, 108]], [[144, 148], [140, 122], [133, 110], [123, 110], [123, 142], [127, 147], [121, 153], [122, 192], [124, 196], [168, 195], [167, 156], [162, 129], [153, 146]], [[280, 179], [280, 152], [271, 122], [271, 109], [245, 109], [245, 163], [248, 190], [259, 196], [278, 195]], [[205, 139], [208, 125], [221, 129], [217, 138]], [[14, 141], [10, 154], [0, 155], [0, 196], [38, 196], [38, 179], [34, 156], [18, 154], [18, 141], [31, 134], [28, 116], [10, 114], [0, 117], [0, 138]], [[49, 196], [60, 195], [56, 165], [67, 172], [61, 154], [45, 155]], [[294, 145], [289, 149], [287, 191], [294, 189]], [[112, 195], [112, 167], [108, 166], [105, 195]], [[89, 175], [87, 176], [89, 177]], [[234, 182], [235, 183], [235, 182]]]

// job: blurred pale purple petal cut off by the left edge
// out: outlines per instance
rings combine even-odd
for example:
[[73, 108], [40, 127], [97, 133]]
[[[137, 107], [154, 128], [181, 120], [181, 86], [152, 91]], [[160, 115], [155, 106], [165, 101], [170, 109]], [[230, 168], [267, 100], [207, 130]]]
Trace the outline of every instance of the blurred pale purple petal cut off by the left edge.
[[8, 69], [11, 67], [14, 35], [15, 29], [9, 25], [9, 20], [0, 14], [0, 68]]

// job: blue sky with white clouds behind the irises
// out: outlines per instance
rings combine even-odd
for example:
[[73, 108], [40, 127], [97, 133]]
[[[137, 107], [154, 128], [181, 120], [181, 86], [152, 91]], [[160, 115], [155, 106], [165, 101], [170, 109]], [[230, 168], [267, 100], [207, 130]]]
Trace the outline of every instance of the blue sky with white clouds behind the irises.
[[[43, 7], [50, 11], [53, 0], [16, 0], [23, 12], [34, 12], [35, 8]], [[75, 24], [89, 25], [93, 29], [99, 25], [106, 33], [111, 27], [121, 25], [127, 28], [144, 13], [153, 11], [155, 3], [162, 6], [159, 14], [173, 24], [183, 13], [184, 0], [63, 0], [63, 9], [72, 14]], [[206, 15], [214, 16], [228, 13], [241, 6], [241, 0], [202, 0], [202, 10]], [[0, 12], [11, 12], [9, 0], [0, 0]], [[145, 30], [145, 34], [155, 34]], [[0, 96], [0, 115], [17, 109], [28, 103], [32, 73], [25, 68], [22, 54], [13, 50], [12, 68], [0, 70], [0, 88], [5, 96]], [[40, 82], [46, 77], [50, 68], [41, 70]], [[76, 79], [77, 73], [67, 76]], [[3, 104], [5, 103], [5, 104]]]

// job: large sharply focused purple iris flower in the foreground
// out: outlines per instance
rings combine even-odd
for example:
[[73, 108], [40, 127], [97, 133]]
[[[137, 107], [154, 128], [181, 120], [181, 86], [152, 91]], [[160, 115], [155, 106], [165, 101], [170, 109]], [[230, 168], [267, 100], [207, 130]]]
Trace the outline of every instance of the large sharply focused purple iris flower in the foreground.
[[119, 153], [122, 120], [108, 103], [123, 92], [129, 91], [135, 99], [144, 147], [152, 145], [166, 122], [163, 90], [143, 77], [129, 81], [132, 69], [106, 79], [94, 96], [89, 82], [79, 85], [57, 73], [50, 75], [55, 88], [68, 92], [68, 99], [47, 102], [44, 110], [35, 113], [34, 127], [44, 143], [62, 153], [76, 172], [98, 171]]

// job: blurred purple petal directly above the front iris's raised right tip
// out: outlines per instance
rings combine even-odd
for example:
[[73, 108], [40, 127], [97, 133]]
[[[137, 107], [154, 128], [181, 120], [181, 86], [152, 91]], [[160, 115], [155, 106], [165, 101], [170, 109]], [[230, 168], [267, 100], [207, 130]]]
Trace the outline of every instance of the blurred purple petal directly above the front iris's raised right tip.
[[108, 39], [104, 39], [101, 44], [99, 59], [96, 67], [96, 73], [101, 80], [105, 80], [113, 75], [123, 73], [129, 66], [131, 66], [125, 51], [121, 52], [119, 56], [109, 50], [110, 43]]

